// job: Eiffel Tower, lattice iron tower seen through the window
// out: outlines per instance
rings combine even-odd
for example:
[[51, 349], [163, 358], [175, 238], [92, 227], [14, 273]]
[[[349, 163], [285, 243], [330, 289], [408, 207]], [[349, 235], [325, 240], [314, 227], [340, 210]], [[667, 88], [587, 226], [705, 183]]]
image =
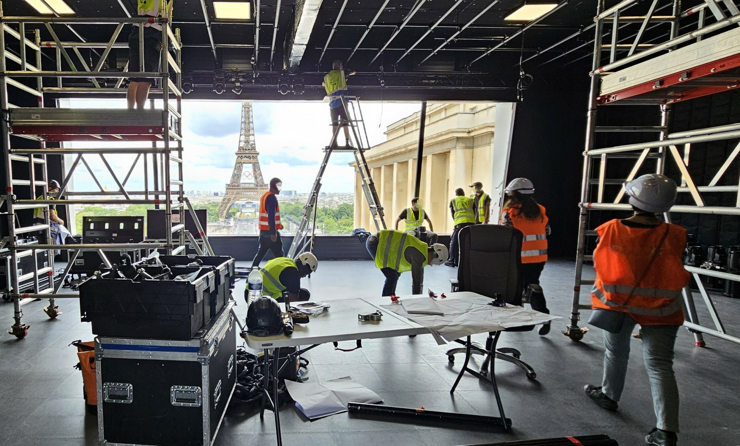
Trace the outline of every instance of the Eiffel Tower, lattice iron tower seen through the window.
[[267, 191], [258, 155], [260, 154], [255, 148], [255, 118], [252, 114], [252, 103], [244, 102], [241, 106], [241, 131], [234, 172], [231, 181], [226, 184], [226, 194], [218, 205], [219, 220], [226, 218], [232, 204], [239, 200], [257, 201]]

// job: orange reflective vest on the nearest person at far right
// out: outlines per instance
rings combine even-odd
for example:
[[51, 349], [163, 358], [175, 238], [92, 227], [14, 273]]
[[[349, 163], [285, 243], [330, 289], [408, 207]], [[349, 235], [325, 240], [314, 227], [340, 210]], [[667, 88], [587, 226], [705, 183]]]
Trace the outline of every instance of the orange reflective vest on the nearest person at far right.
[[[666, 230], [665, 242], [648, 265]], [[681, 260], [686, 229], [670, 223], [630, 228], [620, 220], [611, 220], [596, 232], [599, 245], [593, 251], [596, 283], [591, 290], [592, 307], [625, 311], [641, 325], [682, 325], [681, 290], [690, 277]], [[647, 274], [645, 268], [649, 268]], [[636, 283], [642, 276], [642, 282]]]

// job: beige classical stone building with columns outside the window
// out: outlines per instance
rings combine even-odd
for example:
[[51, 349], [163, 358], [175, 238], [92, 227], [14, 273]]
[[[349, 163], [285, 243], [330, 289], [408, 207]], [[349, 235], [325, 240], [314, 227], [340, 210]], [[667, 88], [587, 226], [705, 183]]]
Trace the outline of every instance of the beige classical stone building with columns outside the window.
[[[468, 186], [480, 181], [485, 192], [497, 202], [501, 180], [491, 184], [497, 176], [493, 175], [497, 105], [502, 110], [513, 110], [512, 104], [493, 103], [431, 104], [427, 108], [419, 197], [435, 232], [452, 232], [454, 223], [448, 205], [458, 187], [469, 195]], [[386, 142], [365, 153], [380, 203], [386, 211], [386, 224], [391, 229], [398, 214], [411, 206], [414, 197], [419, 124], [420, 112], [391, 124], [386, 130]], [[502, 145], [508, 162], [508, 143]], [[372, 231], [374, 224], [361, 188], [360, 173], [355, 163], [351, 166], [355, 167], [354, 226]], [[402, 228], [403, 221], [399, 223], [399, 229]]]

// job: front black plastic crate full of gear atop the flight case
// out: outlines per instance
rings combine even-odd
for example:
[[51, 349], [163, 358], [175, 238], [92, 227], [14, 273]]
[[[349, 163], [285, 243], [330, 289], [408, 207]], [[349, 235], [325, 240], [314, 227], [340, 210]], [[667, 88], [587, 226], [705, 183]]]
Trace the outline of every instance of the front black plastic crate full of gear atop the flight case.
[[[144, 270], [155, 276], [164, 268]], [[170, 269], [169, 280], [118, 278], [107, 270], [84, 281], [79, 285], [82, 322], [92, 322], [92, 333], [100, 336], [191, 339], [215, 314], [210, 305], [215, 272], [188, 266]], [[195, 271], [194, 280], [174, 280]]]

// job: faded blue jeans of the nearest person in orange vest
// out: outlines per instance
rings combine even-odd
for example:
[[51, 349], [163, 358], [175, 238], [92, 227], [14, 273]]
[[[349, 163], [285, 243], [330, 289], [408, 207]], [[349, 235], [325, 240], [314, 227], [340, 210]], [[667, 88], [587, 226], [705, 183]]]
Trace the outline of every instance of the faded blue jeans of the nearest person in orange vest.
[[[625, 388], [630, 339], [636, 323], [626, 317], [619, 333], [604, 331], [602, 391], [614, 401], [619, 401]], [[642, 325], [642, 355], [653, 393], [656, 428], [676, 433], [679, 431], [679, 387], [673, 374], [673, 345], [678, 331], [679, 325]]]

